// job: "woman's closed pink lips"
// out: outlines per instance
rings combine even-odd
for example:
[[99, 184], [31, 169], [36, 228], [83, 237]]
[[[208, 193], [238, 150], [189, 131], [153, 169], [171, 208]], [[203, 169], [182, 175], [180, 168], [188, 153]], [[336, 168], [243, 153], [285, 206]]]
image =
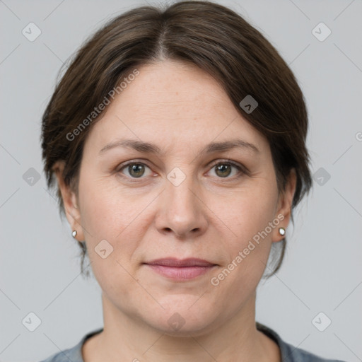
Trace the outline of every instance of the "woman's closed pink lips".
[[151, 262], [145, 262], [144, 265], [157, 274], [165, 276], [168, 279], [173, 279], [174, 281], [188, 281], [197, 278], [197, 276], [202, 276], [217, 266], [217, 264], [195, 258], [157, 259]]

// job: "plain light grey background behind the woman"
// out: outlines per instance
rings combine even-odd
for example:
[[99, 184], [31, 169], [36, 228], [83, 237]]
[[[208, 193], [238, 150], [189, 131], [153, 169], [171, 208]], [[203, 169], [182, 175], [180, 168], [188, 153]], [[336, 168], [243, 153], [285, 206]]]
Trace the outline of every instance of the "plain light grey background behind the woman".
[[[312, 171], [324, 169], [287, 230], [283, 267], [258, 287], [257, 320], [300, 348], [362, 361], [362, 1], [220, 3], [290, 64], [308, 103]], [[103, 327], [100, 287], [82, 279], [78, 246], [45, 187], [40, 119], [62, 63], [137, 4], [146, 2], [0, 0], [0, 361], [40, 361]], [[42, 32], [33, 42], [22, 34], [30, 22]], [[320, 22], [332, 30], [322, 42], [312, 33]], [[30, 168], [40, 174], [33, 185]], [[22, 322], [30, 312], [41, 320], [34, 332]], [[332, 320], [324, 332], [312, 322], [320, 312]]]

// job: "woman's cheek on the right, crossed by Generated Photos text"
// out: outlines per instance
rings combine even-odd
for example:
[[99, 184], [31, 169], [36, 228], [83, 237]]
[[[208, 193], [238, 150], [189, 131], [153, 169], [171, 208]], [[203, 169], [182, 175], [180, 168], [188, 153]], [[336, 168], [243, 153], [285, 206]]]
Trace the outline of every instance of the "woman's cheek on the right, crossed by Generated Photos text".
[[271, 235], [277, 227], [270, 226], [275, 218], [276, 200], [276, 189], [259, 187], [239, 192], [230, 199], [228, 208], [219, 209], [220, 218], [233, 232], [224, 244], [229, 259], [224, 274], [230, 286], [255, 286], [259, 282], [269, 257]]

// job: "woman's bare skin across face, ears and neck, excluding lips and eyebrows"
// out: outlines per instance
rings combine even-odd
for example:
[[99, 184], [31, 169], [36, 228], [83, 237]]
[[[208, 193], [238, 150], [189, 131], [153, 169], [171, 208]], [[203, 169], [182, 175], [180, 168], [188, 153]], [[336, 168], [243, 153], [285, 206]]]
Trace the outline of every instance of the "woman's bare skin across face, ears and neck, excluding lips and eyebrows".
[[[287, 228], [296, 187], [291, 173], [278, 194], [267, 139], [252, 127], [209, 74], [163, 61], [142, 66], [139, 76], [94, 124], [83, 151], [78, 194], [57, 180], [77, 240], [86, 240], [93, 274], [102, 288], [104, 331], [84, 344], [84, 361], [279, 361], [279, 347], [255, 326], [256, 288], [272, 243]], [[156, 144], [163, 154], [115, 147], [115, 139]], [[200, 153], [211, 141], [242, 139], [248, 148]], [[144, 163], [133, 177], [122, 165]], [[215, 163], [247, 168], [224, 173]], [[180, 168], [185, 180], [167, 178]], [[224, 175], [224, 177], [223, 177]], [[177, 176], [179, 177], [179, 176]], [[132, 182], [132, 180], [136, 180]], [[283, 215], [279, 226], [218, 286], [218, 276], [252, 237]], [[100, 240], [113, 251], [95, 252]], [[217, 264], [190, 281], [173, 281], [143, 262], [198, 257]], [[180, 329], [168, 320], [178, 313]]]

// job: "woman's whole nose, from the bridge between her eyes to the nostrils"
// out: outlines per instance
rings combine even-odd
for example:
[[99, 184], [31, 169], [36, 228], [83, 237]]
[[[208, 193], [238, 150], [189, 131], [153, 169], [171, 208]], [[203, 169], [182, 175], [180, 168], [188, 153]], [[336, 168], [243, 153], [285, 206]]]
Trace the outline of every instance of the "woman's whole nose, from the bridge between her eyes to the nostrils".
[[206, 215], [191, 171], [174, 168], [167, 178], [156, 222], [158, 230], [172, 230], [177, 236], [202, 232], [206, 228]]

